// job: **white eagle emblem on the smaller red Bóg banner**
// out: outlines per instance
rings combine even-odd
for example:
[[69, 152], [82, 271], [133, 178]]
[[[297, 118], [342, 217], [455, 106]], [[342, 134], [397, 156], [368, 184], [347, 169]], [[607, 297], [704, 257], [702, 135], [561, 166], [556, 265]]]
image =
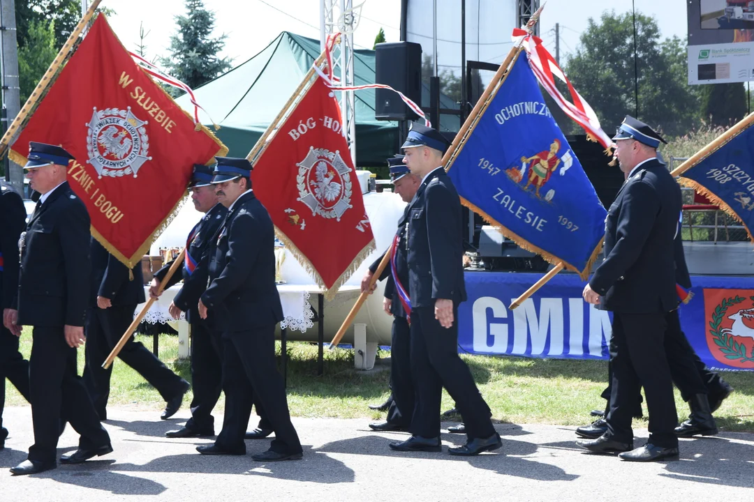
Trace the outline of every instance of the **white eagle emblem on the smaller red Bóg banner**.
[[314, 216], [336, 218], [340, 221], [351, 205], [351, 167], [345, 163], [339, 151], [310, 147], [304, 160], [296, 164], [299, 175], [296, 187], [298, 200], [303, 202]]

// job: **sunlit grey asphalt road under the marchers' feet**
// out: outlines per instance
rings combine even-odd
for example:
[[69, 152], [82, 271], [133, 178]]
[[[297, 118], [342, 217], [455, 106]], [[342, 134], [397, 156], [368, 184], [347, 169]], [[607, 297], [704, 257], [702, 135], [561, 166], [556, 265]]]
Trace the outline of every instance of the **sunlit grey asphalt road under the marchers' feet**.
[[[161, 421], [158, 412], [111, 407], [106, 428], [115, 452], [79, 466], [11, 476], [32, 442], [29, 407], [5, 409], [11, 431], [0, 451], [0, 500], [749, 500], [754, 491], [754, 434], [721, 433], [681, 441], [681, 458], [635, 464], [590, 455], [575, 446], [575, 427], [498, 424], [503, 448], [475, 458], [451, 457], [464, 437], [443, 434], [442, 453], [400, 454], [388, 443], [406, 434], [374, 433], [366, 419], [294, 418], [301, 461], [259, 464], [247, 441], [243, 457], [206, 457], [208, 439], [170, 440], [164, 433], [189, 411]], [[218, 417], [216, 417], [217, 419]], [[222, 423], [222, 417], [219, 422]], [[447, 424], [445, 424], [447, 425]], [[636, 446], [646, 431], [635, 431]], [[75, 449], [71, 427], [59, 453]]]

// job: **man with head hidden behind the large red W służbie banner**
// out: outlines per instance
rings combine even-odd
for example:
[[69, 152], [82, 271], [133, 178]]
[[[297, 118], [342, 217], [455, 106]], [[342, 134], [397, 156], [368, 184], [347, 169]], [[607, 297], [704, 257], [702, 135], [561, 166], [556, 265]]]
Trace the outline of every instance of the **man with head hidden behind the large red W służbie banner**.
[[[133, 311], [144, 303], [144, 276], [141, 263], [128, 269], [97, 239], [91, 238], [92, 281], [87, 311], [84, 385], [87, 386], [100, 420], [107, 420], [112, 366], [103, 369], [103, 361], [118, 344], [133, 321]], [[173, 416], [181, 406], [189, 382], [173, 373], [155, 354], [133, 335], [118, 353], [125, 364], [143, 376], [167, 402], [161, 418]]]

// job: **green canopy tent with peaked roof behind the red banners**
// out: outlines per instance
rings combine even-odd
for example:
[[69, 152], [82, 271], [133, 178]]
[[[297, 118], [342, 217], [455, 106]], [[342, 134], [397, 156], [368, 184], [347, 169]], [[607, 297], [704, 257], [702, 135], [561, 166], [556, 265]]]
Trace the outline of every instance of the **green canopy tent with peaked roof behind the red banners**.
[[[220, 126], [216, 135], [228, 146], [229, 156], [245, 157], [251, 151], [319, 55], [318, 40], [282, 32], [256, 56], [195, 89], [197, 102], [209, 114], [200, 111], [200, 119], [210, 126], [212, 117]], [[354, 81], [374, 84], [374, 50], [355, 51]], [[358, 90], [355, 96], [357, 164], [385, 166], [400, 146], [398, 124], [375, 120], [375, 90]], [[176, 101], [192, 109], [189, 96]], [[447, 96], [440, 102], [443, 108], [458, 108]]]

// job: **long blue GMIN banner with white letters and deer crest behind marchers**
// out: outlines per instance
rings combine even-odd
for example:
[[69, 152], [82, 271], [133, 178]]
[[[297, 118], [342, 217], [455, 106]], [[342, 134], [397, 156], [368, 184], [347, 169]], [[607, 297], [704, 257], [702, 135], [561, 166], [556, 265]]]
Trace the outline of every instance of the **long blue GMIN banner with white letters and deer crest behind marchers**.
[[[561, 273], [524, 301], [510, 303], [540, 274], [464, 273], [468, 300], [458, 307], [458, 345], [471, 354], [607, 359], [611, 314], [584, 302], [584, 281]], [[754, 370], [754, 277], [693, 275], [691, 301], [679, 309], [688, 341], [708, 367]]]

